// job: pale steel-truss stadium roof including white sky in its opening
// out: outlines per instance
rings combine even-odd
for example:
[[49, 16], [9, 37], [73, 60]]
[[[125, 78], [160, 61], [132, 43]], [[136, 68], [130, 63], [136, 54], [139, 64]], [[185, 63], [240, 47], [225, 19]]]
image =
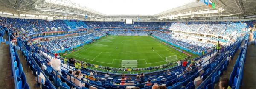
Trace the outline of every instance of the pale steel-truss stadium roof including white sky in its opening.
[[0, 13], [92, 21], [169, 21], [256, 15], [256, 0], [0, 0]]

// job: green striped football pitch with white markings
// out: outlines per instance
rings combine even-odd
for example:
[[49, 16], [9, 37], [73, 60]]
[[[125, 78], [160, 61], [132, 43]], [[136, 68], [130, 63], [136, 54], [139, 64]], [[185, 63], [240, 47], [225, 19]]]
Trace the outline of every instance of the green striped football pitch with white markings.
[[[65, 55], [90, 64], [105, 67], [121, 67], [122, 60], [137, 60], [137, 67], [154, 67], [166, 62], [166, 57], [187, 57], [151, 36], [105, 36], [80, 50]], [[173, 62], [177, 61], [174, 59]]]

